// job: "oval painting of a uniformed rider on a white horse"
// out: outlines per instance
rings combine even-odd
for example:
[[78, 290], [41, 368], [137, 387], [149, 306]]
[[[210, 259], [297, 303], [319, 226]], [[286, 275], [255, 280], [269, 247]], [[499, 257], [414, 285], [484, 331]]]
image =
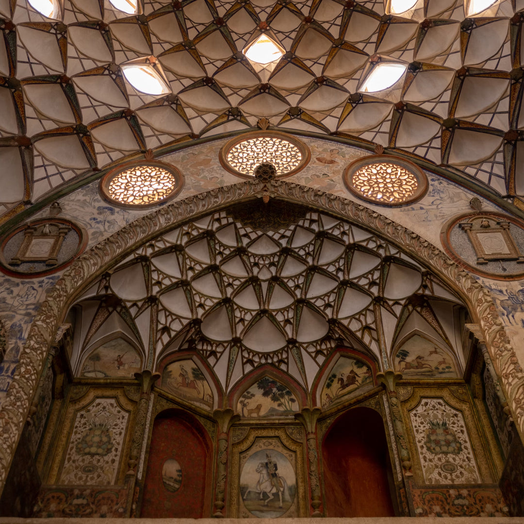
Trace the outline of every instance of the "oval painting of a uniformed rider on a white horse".
[[240, 496], [255, 517], [277, 518], [293, 505], [296, 474], [289, 459], [274, 449], [249, 455], [240, 475]]

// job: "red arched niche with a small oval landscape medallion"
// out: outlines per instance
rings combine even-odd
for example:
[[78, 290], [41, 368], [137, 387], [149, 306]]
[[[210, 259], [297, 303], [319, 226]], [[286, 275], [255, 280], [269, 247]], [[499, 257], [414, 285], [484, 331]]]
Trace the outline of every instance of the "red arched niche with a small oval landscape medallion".
[[141, 517], [209, 517], [210, 453], [198, 420], [178, 410], [160, 413], [151, 433]]

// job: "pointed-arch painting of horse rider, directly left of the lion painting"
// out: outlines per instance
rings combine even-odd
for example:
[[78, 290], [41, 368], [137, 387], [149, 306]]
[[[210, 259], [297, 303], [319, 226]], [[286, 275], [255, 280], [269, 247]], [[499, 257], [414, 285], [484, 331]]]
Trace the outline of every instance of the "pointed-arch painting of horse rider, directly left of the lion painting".
[[213, 393], [202, 370], [191, 359], [172, 362], [162, 373], [161, 388], [204, 409], [213, 407]]

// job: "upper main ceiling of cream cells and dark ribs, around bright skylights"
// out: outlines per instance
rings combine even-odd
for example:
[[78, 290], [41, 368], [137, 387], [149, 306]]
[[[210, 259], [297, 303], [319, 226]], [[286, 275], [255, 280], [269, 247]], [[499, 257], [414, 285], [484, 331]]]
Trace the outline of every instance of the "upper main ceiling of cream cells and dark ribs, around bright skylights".
[[[468, 4], [469, 5], [469, 4]], [[0, 0], [0, 212], [37, 201], [111, 163], [250, 129], [335, 134], [449, 167], [496, 194], [524, 194], [524, 17], [502, 0], [465, 17], [460, 0], [384, 2], [65, 0], [51, 20]], [[269, 27], [276, 67], [242, 54]], [[171, 94], [145, 95], [119, 64], [155, 56]], [[378, 61], [407, 66], [385, 91], [361, 92]]]

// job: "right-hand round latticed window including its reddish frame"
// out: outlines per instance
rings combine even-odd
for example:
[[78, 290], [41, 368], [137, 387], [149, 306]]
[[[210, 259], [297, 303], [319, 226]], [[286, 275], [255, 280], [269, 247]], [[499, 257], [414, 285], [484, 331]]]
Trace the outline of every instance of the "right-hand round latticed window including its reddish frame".
[[428, 189], [428, 179], [416, 165], [383, 155], [351, 163], [344, 171], [344, 183], [358, 198], [389, 206], [418, 200]]

